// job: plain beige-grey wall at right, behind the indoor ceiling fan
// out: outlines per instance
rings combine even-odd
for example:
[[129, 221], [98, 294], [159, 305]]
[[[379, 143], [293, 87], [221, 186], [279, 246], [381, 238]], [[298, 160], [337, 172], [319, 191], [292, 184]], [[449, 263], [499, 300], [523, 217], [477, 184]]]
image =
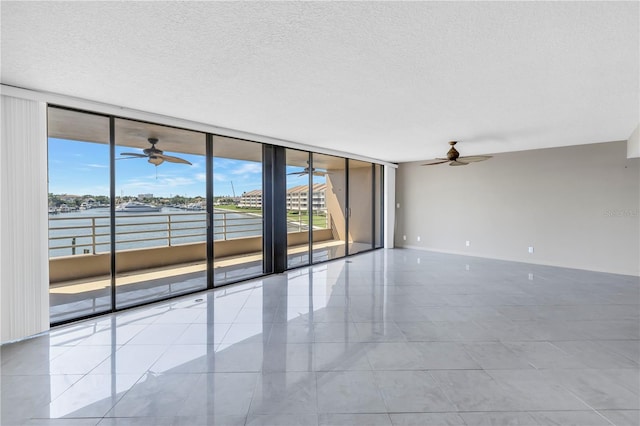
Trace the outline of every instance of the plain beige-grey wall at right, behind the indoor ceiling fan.
[[626, 150], [621, 141], [464, 167], [401, 164], [396, 245], [640, 275], [640, 159]]

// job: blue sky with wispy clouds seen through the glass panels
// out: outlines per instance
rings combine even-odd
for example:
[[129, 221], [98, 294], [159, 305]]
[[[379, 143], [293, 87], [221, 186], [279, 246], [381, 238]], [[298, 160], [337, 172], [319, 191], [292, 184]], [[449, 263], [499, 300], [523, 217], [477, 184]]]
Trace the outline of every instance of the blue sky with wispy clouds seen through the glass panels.
[[[142, 152], [116, 146], [116, 194], [137, 196], [153, 194], [156, 197], [205, 195], [205, 159], [202, 156], [170, 153], [190, 161], [193, 165], [164, 162], [156, 167], [145, 158], [122, 157], [121, 152]], [[126, 159], [124, 159], [126, 158]], [[287, 173], [300, 168], [287, 168]], [[214, 159], [214, 196], [236, 195], [260, 189], [262, 164]], [[308, 176], [287, 176], [287, 186], [302, 185]], [[49, 192], [74, 195], [109, 195], [109, 146], [98, 143], [77, 142], [49, 138]]]

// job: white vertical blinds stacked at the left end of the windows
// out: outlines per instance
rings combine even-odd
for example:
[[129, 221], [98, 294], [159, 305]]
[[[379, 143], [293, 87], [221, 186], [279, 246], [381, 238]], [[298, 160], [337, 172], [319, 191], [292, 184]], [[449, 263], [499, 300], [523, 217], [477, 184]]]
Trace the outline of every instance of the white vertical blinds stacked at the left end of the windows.
[[47, 109], [2, 95], [0, 342], [49, 328]]

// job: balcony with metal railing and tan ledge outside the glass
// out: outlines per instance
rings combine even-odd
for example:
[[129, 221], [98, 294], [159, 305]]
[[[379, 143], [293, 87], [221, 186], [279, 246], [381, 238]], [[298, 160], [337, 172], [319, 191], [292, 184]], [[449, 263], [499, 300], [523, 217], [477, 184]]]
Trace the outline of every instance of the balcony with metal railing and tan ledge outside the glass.
[[[308, 254], [307, 226], [289, 222], [288, 255]], [[111, 307], [111, 237], [108, 216], [50, 217], [51, 320], [61, 322]], [[204, 212], [116, 216], [117, 307], [206, 289]], [[262, 217], [216, 211], [216, 285], [262, 274]], [[345, 242], [331, 229], [315, 229], [314, 258], [331, 258]]]

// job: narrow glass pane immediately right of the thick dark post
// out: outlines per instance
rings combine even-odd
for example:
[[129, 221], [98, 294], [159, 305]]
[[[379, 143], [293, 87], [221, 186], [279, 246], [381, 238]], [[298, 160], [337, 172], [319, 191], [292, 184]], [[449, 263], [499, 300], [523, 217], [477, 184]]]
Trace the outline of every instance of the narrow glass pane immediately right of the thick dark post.
[[[286, 150], [287, 171], [287, 268], [308, 265], [309, 260], [309, 182], [310, 154], [295, 149]], [[311, 172], [311, 173], [310, 173]]]

